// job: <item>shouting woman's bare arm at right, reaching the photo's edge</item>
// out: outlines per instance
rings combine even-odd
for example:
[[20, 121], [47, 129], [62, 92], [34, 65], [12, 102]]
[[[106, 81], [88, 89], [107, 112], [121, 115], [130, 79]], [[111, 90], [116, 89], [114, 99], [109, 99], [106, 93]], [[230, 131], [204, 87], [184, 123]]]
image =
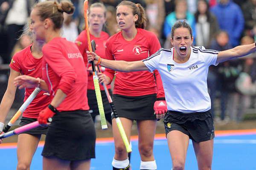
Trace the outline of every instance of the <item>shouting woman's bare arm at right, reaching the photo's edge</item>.
[[224, 62], [237, 57], [243, 57], [255, 51], [256, 51], [256, 43], [249, 44], [249, 45], [239, 45], [230, 50], [219, 52], [216, 63]]

